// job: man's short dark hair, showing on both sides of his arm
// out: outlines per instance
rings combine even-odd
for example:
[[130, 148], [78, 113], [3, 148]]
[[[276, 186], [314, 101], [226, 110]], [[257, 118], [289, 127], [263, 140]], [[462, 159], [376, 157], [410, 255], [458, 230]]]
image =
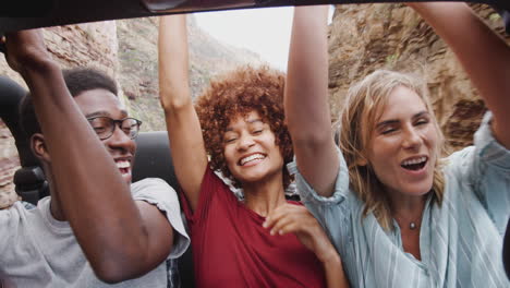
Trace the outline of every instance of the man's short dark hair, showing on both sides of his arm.
[[[97, 70], [78, 68], [63, 70], [62, 74], [65, 85], [73, 97], [92, 89], [106, 89], [113, 93], [116, 96], [118, 94], [116, 82], [107, 74]], [[20, 104], [20, 124], [27, 137], [41, 132], [29, 93]]]

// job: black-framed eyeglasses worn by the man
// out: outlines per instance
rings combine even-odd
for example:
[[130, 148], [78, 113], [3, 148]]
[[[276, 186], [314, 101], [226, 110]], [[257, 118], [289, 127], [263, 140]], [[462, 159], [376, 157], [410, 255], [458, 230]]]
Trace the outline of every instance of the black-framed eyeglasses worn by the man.
[[107, 140], [113, 135], [118, 125], [130, 139], [135, 139], [139, 132], [142, 121], [134, 118], [113, 120], [106, 116], [87, 118], [96, 134], [100, 140]]

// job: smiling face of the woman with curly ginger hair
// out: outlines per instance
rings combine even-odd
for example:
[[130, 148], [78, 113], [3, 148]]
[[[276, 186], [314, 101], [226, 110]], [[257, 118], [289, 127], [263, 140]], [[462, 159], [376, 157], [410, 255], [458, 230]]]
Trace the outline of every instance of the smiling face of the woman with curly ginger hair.
[[231, 120], [223, 134], [223, 155], [230, 172], [243, 185], [282, 180], [283, 158], [275, 133], [256, 111]]

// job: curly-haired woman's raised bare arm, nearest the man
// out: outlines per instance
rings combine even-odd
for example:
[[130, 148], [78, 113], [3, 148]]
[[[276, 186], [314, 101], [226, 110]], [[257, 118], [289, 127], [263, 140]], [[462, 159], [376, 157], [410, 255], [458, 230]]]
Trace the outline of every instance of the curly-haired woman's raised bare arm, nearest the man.
[[201, 123], [189, 85], [185, 15], [162, 16], [159, 22], [159, 96], [165, 110], [175, 175], [195, 209], [207, 167]]

